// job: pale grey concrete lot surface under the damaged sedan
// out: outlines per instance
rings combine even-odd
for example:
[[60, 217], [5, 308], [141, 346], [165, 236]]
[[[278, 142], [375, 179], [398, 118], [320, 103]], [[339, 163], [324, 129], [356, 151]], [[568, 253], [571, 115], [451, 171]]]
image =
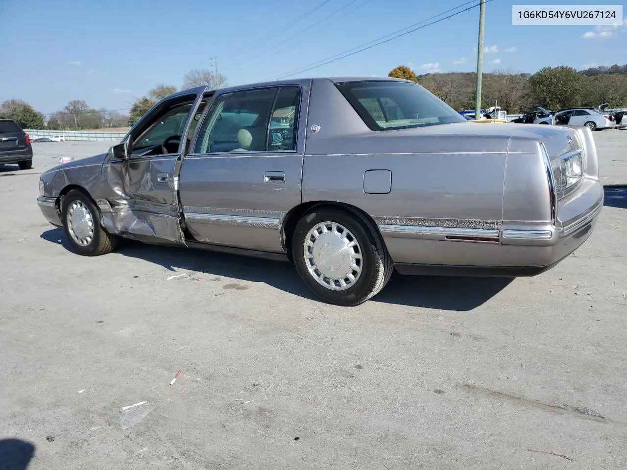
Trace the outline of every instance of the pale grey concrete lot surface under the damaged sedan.
[[[626, 184], [627, 131], [594, 136], [604, 182]], [[38, 174], [107, 147], [34, 144], [33, 170], [0, 167], [0, 468], [627, 467], [623, 193], [545, 274], [394, 276], [339, 308], [289, 264], [70, 253]]]

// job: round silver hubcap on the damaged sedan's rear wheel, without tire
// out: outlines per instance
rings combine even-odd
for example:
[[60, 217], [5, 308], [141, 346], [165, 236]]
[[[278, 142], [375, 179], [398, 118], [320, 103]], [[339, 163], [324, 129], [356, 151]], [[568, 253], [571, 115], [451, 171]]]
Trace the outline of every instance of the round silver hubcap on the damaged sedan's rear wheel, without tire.
[[349, 229], [335, 222], [313, 227], [305, 237], [303, 254], [309, 273], [329, 290], [348, 289], [361, 275], [361, 247]]

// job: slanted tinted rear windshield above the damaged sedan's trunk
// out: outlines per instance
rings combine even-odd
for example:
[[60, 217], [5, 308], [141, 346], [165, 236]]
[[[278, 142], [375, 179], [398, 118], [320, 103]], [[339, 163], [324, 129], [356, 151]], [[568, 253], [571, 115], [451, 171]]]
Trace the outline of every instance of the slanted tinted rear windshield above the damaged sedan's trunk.
[[466, 122], [460, 113], [416, 83], [349, 81], [336, 86], [372, 130]]

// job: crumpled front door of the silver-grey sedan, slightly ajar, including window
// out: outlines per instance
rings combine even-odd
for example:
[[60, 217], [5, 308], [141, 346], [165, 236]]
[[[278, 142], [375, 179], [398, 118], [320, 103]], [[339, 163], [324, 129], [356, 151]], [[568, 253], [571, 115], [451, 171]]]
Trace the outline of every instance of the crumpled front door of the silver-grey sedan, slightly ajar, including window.
[[176, 170], [197, 100], [194, 93], [160, 103], [129, 136], [128, 158], [107, 162], [107, 179], [117, 180], [118, 193], [109, 219], [103, 211], [108, 230], [184, 244]]

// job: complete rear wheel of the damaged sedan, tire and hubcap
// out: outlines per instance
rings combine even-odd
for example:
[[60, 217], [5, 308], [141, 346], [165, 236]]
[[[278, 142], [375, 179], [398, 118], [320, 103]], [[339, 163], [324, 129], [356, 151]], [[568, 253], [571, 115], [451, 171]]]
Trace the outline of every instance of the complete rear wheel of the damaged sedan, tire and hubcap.
[[376, 227], [352, 207], [319, 206], [298, 221], [292, 259], [307, 287], [335, 305], [359, 305], [386, 285], [394, 269]]

